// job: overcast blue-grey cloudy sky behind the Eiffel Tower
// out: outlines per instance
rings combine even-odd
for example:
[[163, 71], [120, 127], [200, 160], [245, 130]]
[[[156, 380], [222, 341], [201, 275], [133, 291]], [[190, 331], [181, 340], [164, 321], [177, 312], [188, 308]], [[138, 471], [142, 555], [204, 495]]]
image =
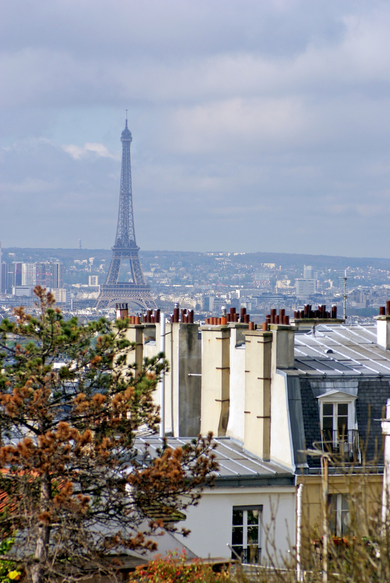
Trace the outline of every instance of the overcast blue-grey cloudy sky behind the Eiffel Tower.
[[12, 0], [0, 240], [390, 257], [390, 2]]

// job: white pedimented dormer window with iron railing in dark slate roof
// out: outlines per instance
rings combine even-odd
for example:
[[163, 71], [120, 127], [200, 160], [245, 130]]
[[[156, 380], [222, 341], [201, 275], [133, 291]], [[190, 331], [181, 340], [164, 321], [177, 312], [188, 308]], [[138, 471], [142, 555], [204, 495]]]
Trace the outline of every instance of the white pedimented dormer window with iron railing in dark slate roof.
[[339, 454], [346, 461], [359, 457], [359, 436], [355, 422], [356, 396], [332, 390], [317, 398], [324, 451]]

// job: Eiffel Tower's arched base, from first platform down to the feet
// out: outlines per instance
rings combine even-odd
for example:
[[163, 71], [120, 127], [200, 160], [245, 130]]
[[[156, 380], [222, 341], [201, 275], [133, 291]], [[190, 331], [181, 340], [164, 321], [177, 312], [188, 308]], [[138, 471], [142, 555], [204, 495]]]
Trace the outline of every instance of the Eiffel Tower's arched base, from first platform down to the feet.
[[97, 310], [114, 308], [115, 304], [132, 302], [144, 310], [157, 308], [150, 287], [148, 285], [135, 285], [133, 283], [105, 283], [100, 286], [100, 294], [97, 298]]

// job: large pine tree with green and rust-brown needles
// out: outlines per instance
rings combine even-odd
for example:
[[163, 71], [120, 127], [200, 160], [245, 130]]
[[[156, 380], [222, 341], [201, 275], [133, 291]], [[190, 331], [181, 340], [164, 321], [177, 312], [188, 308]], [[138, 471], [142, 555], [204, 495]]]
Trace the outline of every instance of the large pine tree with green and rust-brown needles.
[[0, 539], [15, 539], [0, 559], [32, 583], [115, 578], [121, 553], [156, 547], [163, 524], [148, 516], [197, 503], [216, 469], [211, 436], [140, 455], [136, 431], [159, 423], [164, 355], [138, 374], [127, 320], [65, 321], [50, 293], [34, 291], [38, 317], [17, 308], [0, 324]]

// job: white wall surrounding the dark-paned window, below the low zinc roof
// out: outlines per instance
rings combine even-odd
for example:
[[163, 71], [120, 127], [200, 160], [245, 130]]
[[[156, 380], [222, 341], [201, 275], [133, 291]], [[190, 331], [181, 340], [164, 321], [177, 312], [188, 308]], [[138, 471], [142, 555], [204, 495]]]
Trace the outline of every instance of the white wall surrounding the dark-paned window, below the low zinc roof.
[[[271, 538], [275, 540], [277, 561], [280, 553], [287, 557], [287, 550], [295, 544], [296, 489], [295, 487], [264, 488], [207, 488], [198, 506], [188, 508], [187, 520], [179, 523], [191, 530], [183, 538], [175, 535], [199, 557], [231, 557], [226, 543], [231, 545], [233, 506], [263, 505], [262, 521], [272, 524]], [[275, 520], [273, 515], [275, 514]], [[275, 525], [275, 529], [273, 526]], [[267, 563], [267, 547], [273, 553], [271, 540], [266, 540], [265, 529], [261, 532], [261, 562]]]

